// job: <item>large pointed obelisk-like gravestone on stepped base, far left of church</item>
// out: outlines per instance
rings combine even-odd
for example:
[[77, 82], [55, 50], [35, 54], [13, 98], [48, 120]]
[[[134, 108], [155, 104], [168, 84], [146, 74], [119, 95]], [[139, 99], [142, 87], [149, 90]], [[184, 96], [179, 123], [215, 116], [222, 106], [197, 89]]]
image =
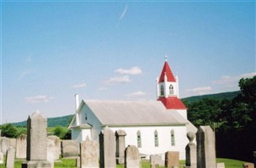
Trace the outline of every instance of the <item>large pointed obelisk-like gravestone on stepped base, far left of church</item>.
[[47, 119], [36, 111], [27, 120], [27, 159], [22, 168], [51, 167], [47, 161]]

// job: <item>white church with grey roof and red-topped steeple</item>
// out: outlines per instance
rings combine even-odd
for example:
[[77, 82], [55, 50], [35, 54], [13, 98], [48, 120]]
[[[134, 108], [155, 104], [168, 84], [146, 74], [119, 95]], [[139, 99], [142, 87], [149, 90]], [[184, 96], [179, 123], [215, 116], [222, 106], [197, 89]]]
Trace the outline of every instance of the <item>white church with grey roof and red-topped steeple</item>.
[[72, 139], [99, 141], [99, 133], [108, 126], [114, 132], [125, 130], [126, 146], [136, 145], [142, 156], [179, 151], [184, 160], [189, 143], [186, 134], [197, 129], [187, 119], [187, 108], [179, 99], [178, 77], [173, 76], [167, 57], [156, 85], [156, 101], [83, 100], [79, 104], [76, 95], [77, 111], [68, 127]]

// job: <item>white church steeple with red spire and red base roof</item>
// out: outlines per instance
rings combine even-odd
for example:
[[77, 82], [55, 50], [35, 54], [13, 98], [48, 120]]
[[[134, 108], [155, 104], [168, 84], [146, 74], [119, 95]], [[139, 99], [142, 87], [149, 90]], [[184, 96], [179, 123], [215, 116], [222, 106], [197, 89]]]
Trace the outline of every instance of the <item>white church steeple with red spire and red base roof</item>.
[[167, 55], [163, 70], [157, 80], [157, 100], [163, 102], [168, 109], [187, 109], [184, 103], [179, 99], [178, 76], [173, 76], [170, 66], [168, 65]]

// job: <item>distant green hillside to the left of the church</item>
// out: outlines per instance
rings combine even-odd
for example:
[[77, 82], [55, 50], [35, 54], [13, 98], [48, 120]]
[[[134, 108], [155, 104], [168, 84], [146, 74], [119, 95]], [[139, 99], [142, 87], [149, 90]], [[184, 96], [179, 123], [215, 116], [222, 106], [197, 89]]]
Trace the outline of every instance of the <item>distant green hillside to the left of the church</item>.
[[[62, 127], [67, 127], [67, 124], [71, 121], [72, 117], [73, 115], [67, 115], [67, 116], [56, 117], [56, 118], [47, 118], [47, 126], [56, 127], [57, 125], [60, 125]], [[13, 123], [13, 125], [19, 126], [19, 127], [25, 127], [27, 126], [27, 121]]]

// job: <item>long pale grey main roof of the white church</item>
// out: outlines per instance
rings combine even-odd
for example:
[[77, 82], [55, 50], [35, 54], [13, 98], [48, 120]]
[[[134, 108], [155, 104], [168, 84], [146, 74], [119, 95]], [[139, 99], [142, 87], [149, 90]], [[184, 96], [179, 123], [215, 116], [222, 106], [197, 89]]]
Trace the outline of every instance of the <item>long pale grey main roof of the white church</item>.
[[172, 113], [159, 101], [83, 101], [108, 126], [187, 124], [178, 112]]

